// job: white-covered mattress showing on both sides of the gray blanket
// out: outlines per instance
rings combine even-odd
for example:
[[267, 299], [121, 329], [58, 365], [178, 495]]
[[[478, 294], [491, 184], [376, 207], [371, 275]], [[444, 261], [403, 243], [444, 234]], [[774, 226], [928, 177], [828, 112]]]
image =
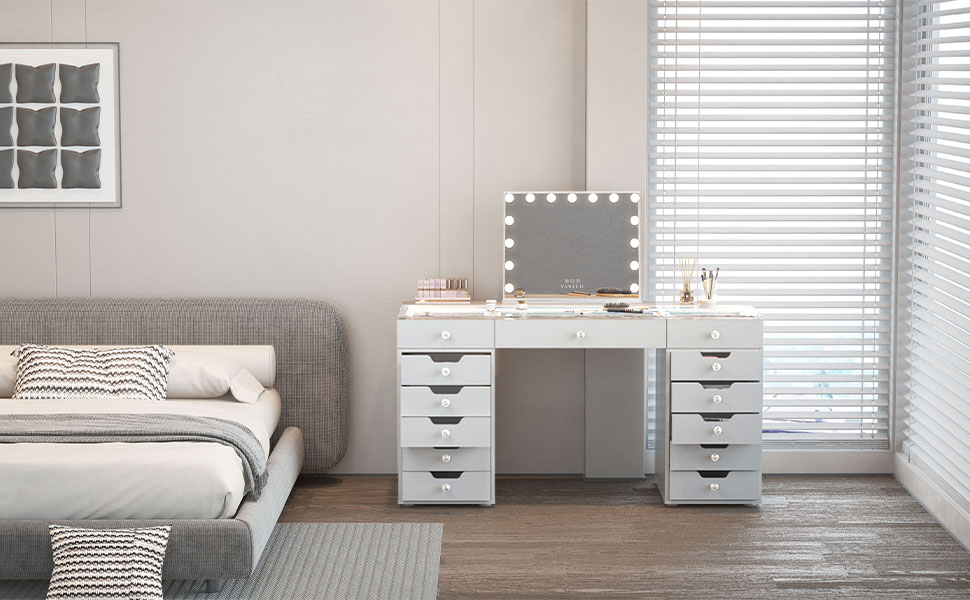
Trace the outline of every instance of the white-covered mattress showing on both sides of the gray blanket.
[[[231, 396], [165, 402], [0, 399], [0, 418], [164, 412], [233, 420], [256, 434], [267, 456], [280, 410], [272, 389], [255, 404]], [[217, 443], [0, 444], [0, 519], [229, 518], [248, 491], [241, 459]]]

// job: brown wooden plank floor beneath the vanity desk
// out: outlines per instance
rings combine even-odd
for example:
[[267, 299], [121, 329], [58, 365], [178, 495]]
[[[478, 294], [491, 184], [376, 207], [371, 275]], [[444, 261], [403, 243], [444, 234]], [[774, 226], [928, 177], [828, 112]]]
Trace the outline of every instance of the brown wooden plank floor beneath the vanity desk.
[[577, 478], [500, 478], [492, 508], [404, 508], [396, 485], [301, 480], [282, 520], [444, 523], [442, 599], [970, 598], [970, 553], [891, 477], [765, 477], [760, 508]]

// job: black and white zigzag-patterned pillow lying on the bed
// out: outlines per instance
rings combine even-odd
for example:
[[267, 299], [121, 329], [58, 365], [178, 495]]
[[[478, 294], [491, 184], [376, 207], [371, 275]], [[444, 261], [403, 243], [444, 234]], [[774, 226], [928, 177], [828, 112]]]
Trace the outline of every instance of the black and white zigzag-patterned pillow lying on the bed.
[[165, 346], [75, 349], [24, 344], [14, 398], [164, 400], [174, 352]]

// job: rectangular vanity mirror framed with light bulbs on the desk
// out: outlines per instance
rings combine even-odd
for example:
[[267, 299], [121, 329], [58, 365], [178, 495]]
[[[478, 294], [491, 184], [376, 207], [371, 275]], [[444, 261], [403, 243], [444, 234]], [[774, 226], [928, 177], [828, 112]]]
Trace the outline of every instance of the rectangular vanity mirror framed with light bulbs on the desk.
[[589, 299], [605, 288], [639, 299], [638, 192], [506, 192], [504, 200], [506, 299], [516, 290], [526, 300]]

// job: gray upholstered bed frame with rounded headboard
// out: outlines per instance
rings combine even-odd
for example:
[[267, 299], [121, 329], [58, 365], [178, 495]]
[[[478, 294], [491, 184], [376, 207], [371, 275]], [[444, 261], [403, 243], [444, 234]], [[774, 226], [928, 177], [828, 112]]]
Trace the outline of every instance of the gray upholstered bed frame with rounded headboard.
[[[277, 298], [0, 298], [0, 345], [270, 344], [282, 417], [269, 483], [232, 519], [56, 521], [83, 527], [171, 524], [165, 579], [248, 577], [297, 475], [321, 473], [347, 450], [349, 356], [333, 305]], [[48, 579], [52, 521], [0, 520], [0, 579]]]

